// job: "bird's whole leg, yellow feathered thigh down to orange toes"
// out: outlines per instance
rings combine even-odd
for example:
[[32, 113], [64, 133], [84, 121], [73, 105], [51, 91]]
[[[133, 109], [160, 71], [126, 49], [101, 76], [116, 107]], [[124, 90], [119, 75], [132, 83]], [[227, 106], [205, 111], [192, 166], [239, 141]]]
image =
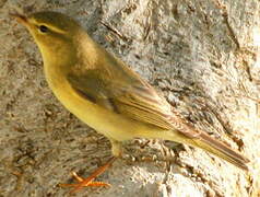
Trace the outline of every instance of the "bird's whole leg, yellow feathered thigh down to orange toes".
[[98, 167], [96, 171], [92, 173], [86, 178], [80, 177], [75, 172], [72, 173], [73, 177], [79, 182], [75, 184], [59, 184], [61, 187], [74, 187], [70, 193], [75, 193], [79, 189], [83, 187], [88, 187], [88, 186], [110, 186], [107, 183], [104, 182], [93, 182], [94, 178], [96, 178], [98, 175], [104, 173], [113, 163], [114, 161], [121, 155], [121, 144], [118, 141], [110, 140], [111, 142], [111, 152], [113, 152], [113, 158], [107, 161], [107, 163], [101, 167]]

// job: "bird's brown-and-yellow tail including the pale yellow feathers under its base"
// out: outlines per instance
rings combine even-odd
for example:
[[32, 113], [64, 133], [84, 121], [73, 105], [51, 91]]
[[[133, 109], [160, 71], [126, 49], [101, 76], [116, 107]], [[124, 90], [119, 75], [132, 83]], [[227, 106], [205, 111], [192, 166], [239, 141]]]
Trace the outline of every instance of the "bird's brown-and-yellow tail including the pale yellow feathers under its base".
[[198, 147], [243, 170], [248, 170], [246, 164], [250, 161], [224, 142], [211, 137], [206, 132], [198, 131], [188, 125], [182, 124], [177, 126], [178, 129], [175, 130], [157, 130], [155, 127], [142, 128], [139, 134], [135, 134], [135, 136], [141, 138], [149, 137], [154, 139], [170, 140], [179, 143], [186, 143], [191, 147]]

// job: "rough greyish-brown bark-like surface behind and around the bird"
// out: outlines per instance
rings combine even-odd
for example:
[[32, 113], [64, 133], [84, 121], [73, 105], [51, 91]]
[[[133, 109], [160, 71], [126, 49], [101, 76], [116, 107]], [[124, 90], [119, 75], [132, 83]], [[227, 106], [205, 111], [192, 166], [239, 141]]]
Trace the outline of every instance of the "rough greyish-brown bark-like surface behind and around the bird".
[[260, 195], [260, 2], [243, 0], [0, 1], [0, 196], [66, 196], [70, 172], [87, 176], [108, 140], [48, 89], [40, 54], [9, 13], [67, 13], [161, 90], [197, 127], [239, 149], [248, 173], [202, 150], [137, 139], [75, 196]]

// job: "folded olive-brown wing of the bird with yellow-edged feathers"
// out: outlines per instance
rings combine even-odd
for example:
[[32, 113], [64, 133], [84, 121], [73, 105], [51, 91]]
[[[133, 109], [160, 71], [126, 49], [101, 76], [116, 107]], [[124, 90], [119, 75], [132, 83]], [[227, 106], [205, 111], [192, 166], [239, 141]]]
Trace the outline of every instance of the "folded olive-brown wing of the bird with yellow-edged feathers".
[[68, 74], [68, 81], [82, 96], [118, 114], [163, 129], [175, 129], [187, 137], [200, 135], [173, 113], [154, 88], [128, 68], [74, 71]]

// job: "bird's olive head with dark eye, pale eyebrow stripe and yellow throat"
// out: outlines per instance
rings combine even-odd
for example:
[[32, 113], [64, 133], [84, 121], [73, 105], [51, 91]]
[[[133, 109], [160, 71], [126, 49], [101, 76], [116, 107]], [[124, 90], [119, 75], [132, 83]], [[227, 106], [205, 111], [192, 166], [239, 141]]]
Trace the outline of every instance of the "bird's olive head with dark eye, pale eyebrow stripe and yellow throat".
[[[81, 26], [73, 19], [58, 12], [36, 12], [28, 16], [13, 14], [32, 34], [44, 61], [60, 61], [75, 51], [75, 39]], [[71, 58], [70, 58], [71, 59]]]

